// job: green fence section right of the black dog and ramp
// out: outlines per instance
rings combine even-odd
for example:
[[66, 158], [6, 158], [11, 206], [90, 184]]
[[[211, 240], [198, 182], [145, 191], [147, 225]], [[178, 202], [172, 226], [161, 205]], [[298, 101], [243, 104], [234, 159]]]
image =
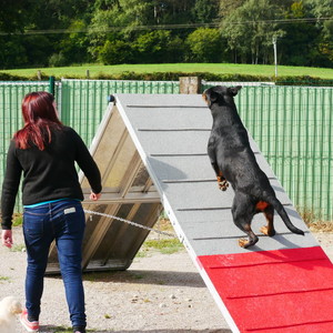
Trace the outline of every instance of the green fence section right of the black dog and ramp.
[[248, 87], [239, 112], [303, 213], [333, 220], [333, 89]]

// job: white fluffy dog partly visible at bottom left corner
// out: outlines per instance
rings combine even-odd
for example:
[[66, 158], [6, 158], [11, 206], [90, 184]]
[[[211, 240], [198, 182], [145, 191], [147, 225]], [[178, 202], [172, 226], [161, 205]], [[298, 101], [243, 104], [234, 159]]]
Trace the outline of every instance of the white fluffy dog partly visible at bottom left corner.
[[0, 332], [16, 333], [16, 314], [22, 312], [21, 303], [13, 296], [4, 297], [0, 302]]

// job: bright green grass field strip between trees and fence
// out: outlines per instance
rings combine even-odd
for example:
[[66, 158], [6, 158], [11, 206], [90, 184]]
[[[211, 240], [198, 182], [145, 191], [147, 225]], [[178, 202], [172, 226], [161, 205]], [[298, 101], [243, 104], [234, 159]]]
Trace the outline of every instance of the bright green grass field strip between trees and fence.
[[[122, 72], [153, 73], [153, 72], [210, 72], [214, 74], [248, 74], [274, 77], [274, 65], [263, 64], [232, 64], [232, 63], [161, 63], [161, 64], [117, 64], [117, 65], [99, 65], [83, 64], [80, 67], [63, 68], [37, 68], [37, 69], [17, 69], [3, 70], [1, 72], [20, 75], [32, 77], [40, 70], [44, 75], [57, 78], [83, 78], [87, 70], [90, 78], [93, 79], [100, 74], [117, 75]], [[309, 68], [309, 67], [278, 67], [278, 77], [296, 77], [309, 75], [321, 79], [333, 79], [333, 69], [327, 68]]]

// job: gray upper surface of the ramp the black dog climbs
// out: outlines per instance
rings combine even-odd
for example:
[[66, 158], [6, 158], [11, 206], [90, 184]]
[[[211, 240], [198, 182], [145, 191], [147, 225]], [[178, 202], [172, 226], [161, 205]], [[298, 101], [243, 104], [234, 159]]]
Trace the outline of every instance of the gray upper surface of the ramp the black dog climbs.
[[[192, 258], [248, 253], [249, 250], [238, 245], [238, 239], [244, 234], [232, 222], [233, 190], [218, 189], [206, 154], [212, 118], [202, 97], [117, 94], [117, 108], [178, 236]], [[259, 229], [265, 224], [265, 219], [258, 214], [252, 225], [260, 241], [250, 251], [317, 246], [252, 139], [251, 145], [292, 222], [306, 233], [305, 236], [291, 233], [275, 214], [278, 234], [260, 236]]]

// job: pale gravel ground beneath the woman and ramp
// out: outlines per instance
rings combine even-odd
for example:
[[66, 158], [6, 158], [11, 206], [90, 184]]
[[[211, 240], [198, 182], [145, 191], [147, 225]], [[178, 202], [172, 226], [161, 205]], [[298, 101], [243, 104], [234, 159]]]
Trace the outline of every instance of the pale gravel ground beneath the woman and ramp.
[[[333, 259], [333, 233], [315, 233]], [[22, 303], [26, 253], [21, 228], [13, 230], [14, 249], [0, 246], [0, 299]], [[230, 333], [215, 302], [185, 250], [150, 252], [135, 258], [125, 272], [84, 274], [88, 330], [91, 332], [219, 332]], [[70, 327], [62, 280], [46, 278], [40, 332]], [[23, 333], [20, 324], [17, 333]]]

